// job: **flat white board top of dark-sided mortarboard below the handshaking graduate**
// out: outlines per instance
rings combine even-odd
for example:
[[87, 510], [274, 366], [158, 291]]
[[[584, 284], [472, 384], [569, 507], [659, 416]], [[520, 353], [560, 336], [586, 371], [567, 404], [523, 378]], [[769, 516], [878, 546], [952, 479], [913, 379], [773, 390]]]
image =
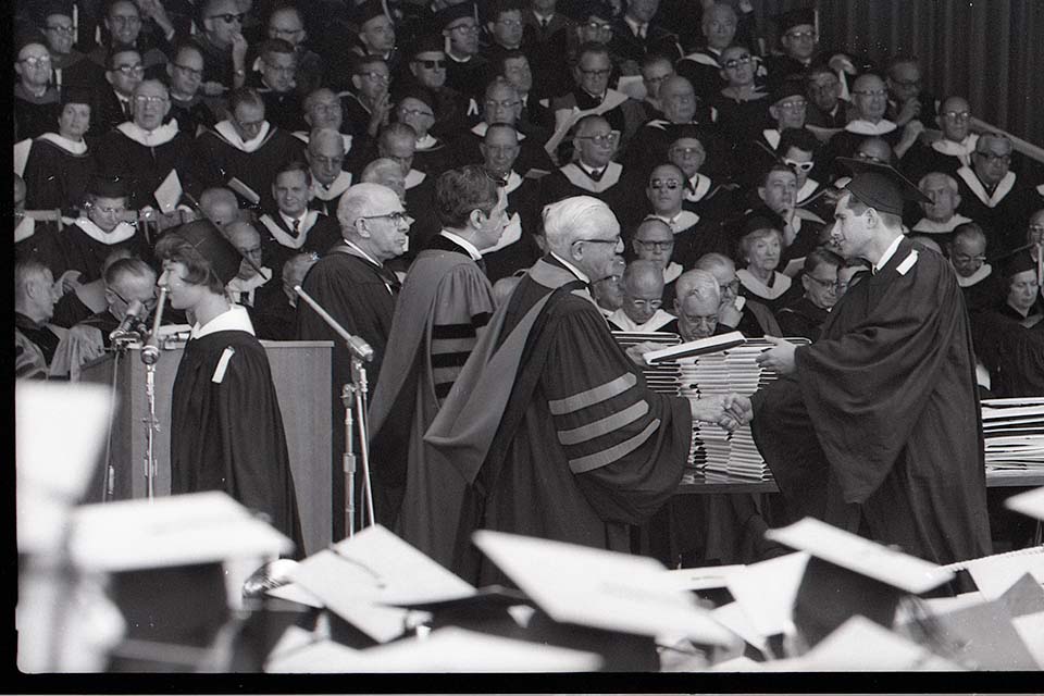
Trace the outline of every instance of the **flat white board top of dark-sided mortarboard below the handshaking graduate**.
[[954, 576], [953, 571], [945, 568], [812, 518], [769, 530], [765, 536], [915, 595], [937, 587]]

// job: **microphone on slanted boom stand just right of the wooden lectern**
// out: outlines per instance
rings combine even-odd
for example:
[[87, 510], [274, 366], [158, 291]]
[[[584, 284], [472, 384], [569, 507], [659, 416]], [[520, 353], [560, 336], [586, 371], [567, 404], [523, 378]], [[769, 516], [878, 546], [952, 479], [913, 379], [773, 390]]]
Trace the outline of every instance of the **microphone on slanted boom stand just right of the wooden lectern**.
[[[345, 452], [341, 457], [341, 468], [345, 474], [345, 529], [348, 531], [348, 536], [351, 537], [356, 533], [356, 452], [351, 438], [353, 424], [359, 426], [359, 452], [362, 460], [362, 489], [365, 501], [363, 526], [372, 525], [374, 522], [373, 488], [370, 483], [369, 420], [366, 419], [369, 386], [366, 369], [363, 365], [364, 361], [373, 360], [373, 349], [364, 340], [345, 331], [344, 326], [338, 324], [337, 320], [331, 316], [300, 285], [296, 285], [294, 291], [308, 302], [309, 307], [315, 310], [315, 313], [345, 340], [345, 345], [351, 353], [351, 382], [345, 383], [340, 390], [340, 401], [345, 408]], [[352, 408], [356, 411], [355, 420], [352, 419]]]

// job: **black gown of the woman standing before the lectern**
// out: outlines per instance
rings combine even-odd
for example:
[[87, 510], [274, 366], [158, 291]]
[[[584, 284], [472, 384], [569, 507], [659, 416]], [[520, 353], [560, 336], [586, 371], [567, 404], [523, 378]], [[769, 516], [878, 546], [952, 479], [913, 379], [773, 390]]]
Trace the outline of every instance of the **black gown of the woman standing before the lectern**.
[[[223, 356], [229, 356], [222, 374]], [[185, 345], [171, 397], [171, 493], [224, 490], [302, 554], [283, 415], [269, 358], [245, 331]]]

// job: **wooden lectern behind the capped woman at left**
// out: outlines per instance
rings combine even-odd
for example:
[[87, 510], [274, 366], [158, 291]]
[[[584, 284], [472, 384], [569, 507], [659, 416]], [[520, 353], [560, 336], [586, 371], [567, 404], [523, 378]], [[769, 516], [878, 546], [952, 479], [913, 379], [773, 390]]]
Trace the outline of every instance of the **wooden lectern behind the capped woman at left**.
[[[304, 555], [327, 547], [333, 537], [331, 493], [331, 402], [328, 340], [262, 340], [279, 398], [286, 448], [290, 458], [297, 509], [301, 517]], [[163, 350], [156, 364], [156, 417], [160, 423], [153, 443], [157, 496], [171, 494], [171, 393], [182, 360], [182, 344]], [[83, 381], [111, 386], [115, 372], [116, 409], [113, 415], [109, 461], [112, 465], [111, 500], [145, 498], [146, 418], [145, 364], [140, 349], [107, 353], [83, 370]], [[100, 468], [100, 470], [103, 468]], [[103, 471], [100, 474], [103, 476]], [[102, 481], [88, 490], [85, 501], [102, 500]]]

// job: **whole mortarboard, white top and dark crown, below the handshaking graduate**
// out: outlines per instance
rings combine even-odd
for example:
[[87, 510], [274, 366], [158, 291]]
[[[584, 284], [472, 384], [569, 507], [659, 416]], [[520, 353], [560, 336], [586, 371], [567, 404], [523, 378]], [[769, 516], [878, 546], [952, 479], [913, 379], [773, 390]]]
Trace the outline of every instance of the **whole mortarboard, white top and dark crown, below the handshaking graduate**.
[[815, 646], [856, 614], [891, 627], [899, 600], [954, 573], [856, 534], [805, 518], [769, 538], [811, 555], [794, 600], [794, 625]]

